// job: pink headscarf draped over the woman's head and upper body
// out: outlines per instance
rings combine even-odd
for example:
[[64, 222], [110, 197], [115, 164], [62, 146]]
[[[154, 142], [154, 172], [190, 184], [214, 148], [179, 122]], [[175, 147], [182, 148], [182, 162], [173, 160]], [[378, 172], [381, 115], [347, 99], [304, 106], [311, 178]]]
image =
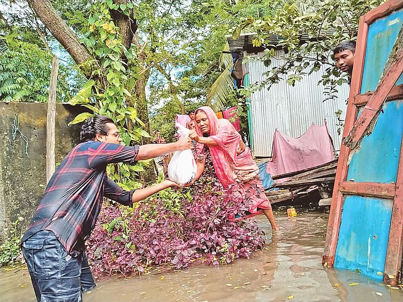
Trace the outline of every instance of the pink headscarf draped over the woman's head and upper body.
[[[241, 135], [235, 130], [229, 120], [218, 119], [217, 115], [210, 107], [203, 106], [197, 110], [206, 113], [209, 119], [209, 137], [218, 143], [217, 146], [209, 145], [214, 169], [216, 170], [217, 177], [221, 184], [224, 188], [228, 188], [230, 184], [235, 182], [233, 170]], [[203, 132], [201, 132], [197, 125], [195, 130], [198, 136], [203, 137]], [[203, 152], [203, 147], [203, 144], [197, 144], [197, 154]]]

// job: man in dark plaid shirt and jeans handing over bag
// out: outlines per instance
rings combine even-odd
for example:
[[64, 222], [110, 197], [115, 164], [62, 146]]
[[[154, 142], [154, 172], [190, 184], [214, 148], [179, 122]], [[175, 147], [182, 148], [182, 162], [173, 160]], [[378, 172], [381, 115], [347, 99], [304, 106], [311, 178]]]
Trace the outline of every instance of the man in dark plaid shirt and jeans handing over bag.
[[94, 229], [103, 197], [132, 206], [160, 190], [178, 186], [166, 180], [148, 188], [125, 191], [106, 175], [106, 165], [159, 157], [189, 149], [191, 141], [120, 145], [121, 136], [106, 116], [90, 117], [82, 141], [63, 159], [47, 184], [23, 239], [22, 251], [38, 301], [81, 301], [95, 286], [84, 242]]

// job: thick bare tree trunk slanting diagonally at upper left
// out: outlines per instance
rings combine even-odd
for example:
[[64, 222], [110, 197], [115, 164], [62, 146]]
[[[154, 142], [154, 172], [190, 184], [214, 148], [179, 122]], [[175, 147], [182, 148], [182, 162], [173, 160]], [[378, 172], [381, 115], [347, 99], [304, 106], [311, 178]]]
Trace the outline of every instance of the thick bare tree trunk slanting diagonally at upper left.
[[80, 43], [76, 33], [60, 18], [49, 0], [28, 0], [28, 3], [77, 64], [82, 64], [92, 57], [87, 48]]

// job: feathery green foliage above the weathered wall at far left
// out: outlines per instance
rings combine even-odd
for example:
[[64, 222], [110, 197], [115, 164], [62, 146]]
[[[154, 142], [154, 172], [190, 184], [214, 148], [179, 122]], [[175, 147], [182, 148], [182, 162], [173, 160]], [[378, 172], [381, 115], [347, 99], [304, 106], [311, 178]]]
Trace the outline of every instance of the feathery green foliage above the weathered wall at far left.
[[[51, 53], [20, 41], [17, 32], [0, 37], [0, 100], [47, 102]], [[66, 70], [59, 68], [56, 101], [70, 99]]]

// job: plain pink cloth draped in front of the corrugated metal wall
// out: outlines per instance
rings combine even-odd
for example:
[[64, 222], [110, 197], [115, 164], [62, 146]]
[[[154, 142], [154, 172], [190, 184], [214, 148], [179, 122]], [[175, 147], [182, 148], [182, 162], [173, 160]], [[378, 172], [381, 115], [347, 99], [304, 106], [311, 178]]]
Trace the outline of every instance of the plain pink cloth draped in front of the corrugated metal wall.
[[272, 176], [300, 171], [334, 160], [334, 147], [327, 129], [312, 124], [298, 138], [288, 137], [276, 129], [273, 139], [273, 158], [267, 162], [266, 172]]

